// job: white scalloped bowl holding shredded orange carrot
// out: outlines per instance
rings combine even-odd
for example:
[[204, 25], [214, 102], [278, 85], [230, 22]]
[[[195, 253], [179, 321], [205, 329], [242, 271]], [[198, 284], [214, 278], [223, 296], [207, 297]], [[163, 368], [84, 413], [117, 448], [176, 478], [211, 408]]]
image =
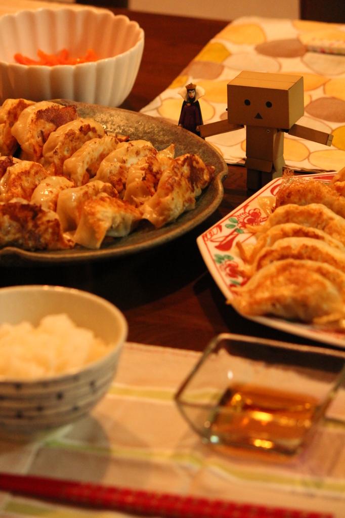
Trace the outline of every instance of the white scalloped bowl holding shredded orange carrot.
[[[137, 22], [106, 9], [63, 7], [19, 11], [0, 18], [0, 97], [34, 101], [65, 98], [119, 106], [133, 88], [144, 45]], [[20, 65], [19, 52], [37, 50], [71, 57], [92, 48], [98, 61], [78, 65]]]

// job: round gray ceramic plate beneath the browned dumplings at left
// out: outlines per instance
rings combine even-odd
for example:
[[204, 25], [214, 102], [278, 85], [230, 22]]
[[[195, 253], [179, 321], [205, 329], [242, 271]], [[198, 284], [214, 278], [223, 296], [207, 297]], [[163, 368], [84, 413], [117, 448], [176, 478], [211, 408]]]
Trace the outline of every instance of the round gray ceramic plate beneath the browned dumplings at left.
[[31, 252], [15, 247], [0, 250], [0, 264], [27, 264], [31, 262], [55, 263], [90, 261], [136, 253], [156, 247], [190, 231], [206, 220], [217, 209], [223, 198], [222, 181], [227, 175], [227, 165], [221, 155], [205, 140], [182, 128], [154, 119], [142, 113], [108, 108], [84, 103], [59, 100], [60, 104], [77, 105], [80, 117], [93, 117], [109, 132], [129, 135], [131, 140], [145, 139], [158, 150], [175, 143], [175, 156], [183, 153], [197, 153], [207, 164], [215, 167], [215, 178], [196, 202], [196, 208], [182, 214], [174, 223], [155, 229], [149, 222], [140, 222], [139, 228], [127, 237], [104, 243], [99, 250], [89, 250], [79, 245], [71, 250]]

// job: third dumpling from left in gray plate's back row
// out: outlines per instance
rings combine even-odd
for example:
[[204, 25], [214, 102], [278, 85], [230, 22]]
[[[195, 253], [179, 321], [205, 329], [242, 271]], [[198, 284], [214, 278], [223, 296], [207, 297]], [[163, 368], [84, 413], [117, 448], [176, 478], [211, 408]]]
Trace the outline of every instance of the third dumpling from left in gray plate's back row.
[[106, 132], [94, 119], [76, 119], [53, 131], [43, 146], [44, 167], [51, 176], [62, 175], [65, 160], [69, 159], [83, 143], [102, 138]]

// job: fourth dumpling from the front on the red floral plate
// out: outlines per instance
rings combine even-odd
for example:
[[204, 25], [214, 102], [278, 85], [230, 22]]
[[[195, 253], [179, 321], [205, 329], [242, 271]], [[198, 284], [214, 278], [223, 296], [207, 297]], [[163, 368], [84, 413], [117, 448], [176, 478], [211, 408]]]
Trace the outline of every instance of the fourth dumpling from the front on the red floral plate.
[[345, 245], [345, 219], [319, 203], [283, 205], [278, 207], [263, 225], [247, 225], [247, 229], [253, 233], [265, 233], [275, 225], [289, 222], [318, 228]]

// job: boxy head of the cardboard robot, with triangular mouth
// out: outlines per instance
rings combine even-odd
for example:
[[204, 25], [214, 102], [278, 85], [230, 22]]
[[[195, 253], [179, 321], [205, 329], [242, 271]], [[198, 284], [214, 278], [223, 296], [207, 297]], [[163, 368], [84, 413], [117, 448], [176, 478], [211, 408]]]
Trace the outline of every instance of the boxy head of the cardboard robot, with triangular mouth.
[[289, 130], [303, 114], [303, 76], [241, 72], [227, 85], [229, 123]]

